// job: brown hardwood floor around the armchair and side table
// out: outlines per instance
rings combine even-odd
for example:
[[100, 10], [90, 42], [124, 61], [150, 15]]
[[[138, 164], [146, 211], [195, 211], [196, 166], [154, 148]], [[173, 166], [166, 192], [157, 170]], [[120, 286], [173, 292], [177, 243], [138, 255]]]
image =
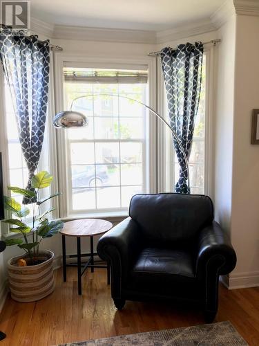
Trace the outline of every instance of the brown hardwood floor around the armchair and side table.
[[[0, 316], [0, 330], [7, 334], [1, 346], [57, 345], [204, 323], [202, 313], [168, 304], [127, 302], [117, 311], [104, 269], [84, 274], [81, 296], [76, 268], [68, 268], [68, 282], [63, 283], [61, 268], [55, 279], [55, 292], [39, 302], [18, 303], [8, 297]], [[231, 321], [249, 345], [259, 345], [259, 287], [228, 291], [220, 286], [215, 322], [223, 320]]]

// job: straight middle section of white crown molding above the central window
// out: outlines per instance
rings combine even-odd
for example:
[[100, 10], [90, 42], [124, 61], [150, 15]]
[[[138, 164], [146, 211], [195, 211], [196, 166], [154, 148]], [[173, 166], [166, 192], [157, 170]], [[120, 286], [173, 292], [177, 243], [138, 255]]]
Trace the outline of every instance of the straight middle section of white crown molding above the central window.
[[155, 43], [155, 31], [88, 28], [83, 26], [57, 25], [54, 27], [52, 37], [55, 39], [79, 39], [84, 41], [128, 42], [142, 44]]

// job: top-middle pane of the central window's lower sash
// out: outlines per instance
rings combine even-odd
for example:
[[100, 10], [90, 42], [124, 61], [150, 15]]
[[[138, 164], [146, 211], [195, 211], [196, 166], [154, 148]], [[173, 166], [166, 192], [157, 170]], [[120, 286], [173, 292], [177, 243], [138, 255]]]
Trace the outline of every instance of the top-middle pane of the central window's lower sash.
[[119, 142], [95, 143], [96, 163], [119, 163]]

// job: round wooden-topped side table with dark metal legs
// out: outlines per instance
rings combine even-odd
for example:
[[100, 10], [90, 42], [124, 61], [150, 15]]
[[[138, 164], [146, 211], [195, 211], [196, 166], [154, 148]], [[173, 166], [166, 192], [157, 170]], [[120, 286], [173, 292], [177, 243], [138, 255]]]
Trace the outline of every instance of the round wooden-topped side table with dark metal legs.
[[[106, 266], [103, 266], [97, 265], [94, 262], [94, 257], [97, 253], [93, 252], [93, 237], [95, 235], [106, 233], [108, 230], [111, 230], [112, 227], [113, 224], [106, 220], [79, 219], [66, 222], [64, 228], [60, 232], [62, 235], [63, 280], [66, 282], [66, 267], [76, 265], [79, 295], [81, 295], [81, 275], [84, 274], [88, 267], [91, 268], [92, 273], [94, 268], [107, 268], [107, 283], [110, 284], [110, 267], [108, 263]], [[68, 255], [69, 258], [77, 257], [77, 264], [66, 264], [66, 237], [77, 237], [77, 254]], [[81, 237], [90, 237], [90, 253], [81, 253]], [[89, 257], [89, 259], [85, 264], [83, 264], [81, 263], [81, 257]], [[82, 270], [81, 266], [83, 266]]]

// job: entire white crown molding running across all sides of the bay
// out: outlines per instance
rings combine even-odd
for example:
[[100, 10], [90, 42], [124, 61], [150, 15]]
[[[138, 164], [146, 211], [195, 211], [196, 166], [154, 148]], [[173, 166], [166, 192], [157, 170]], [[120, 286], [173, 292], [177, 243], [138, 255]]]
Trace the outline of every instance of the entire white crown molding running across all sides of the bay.
[[161, 31], [127, 30], [113, 28], [91, 28], [83, 26], [52, 25], [44, 21], [31, 18], [31, 31], [33, 34], [43, 35], [46, 38], [78, 39], [97, 42], [124, 42], [137, 44], [163, 44], [176, 39], [210, 33], [218, 29], [230, 14], [233, 6], [228, 5], [216, 11], [210, 19], [195, 21], [191, 24], [178, 26]]

